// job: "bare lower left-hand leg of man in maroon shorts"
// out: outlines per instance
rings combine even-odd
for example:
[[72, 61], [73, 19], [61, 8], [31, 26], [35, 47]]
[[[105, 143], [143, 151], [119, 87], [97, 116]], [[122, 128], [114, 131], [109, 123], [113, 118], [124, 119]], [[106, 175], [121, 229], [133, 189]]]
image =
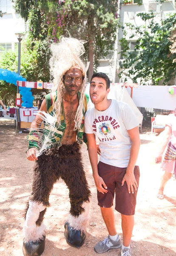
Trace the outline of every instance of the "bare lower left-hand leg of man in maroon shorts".
[[103, 220], [105, 221], [105, 225], [108, 229], [108, 233], [110, 236], [115, 236], [117, 234], [115, 227], [115, 218], [113, 208], [103, 208], [100, 207], [102, 212]]

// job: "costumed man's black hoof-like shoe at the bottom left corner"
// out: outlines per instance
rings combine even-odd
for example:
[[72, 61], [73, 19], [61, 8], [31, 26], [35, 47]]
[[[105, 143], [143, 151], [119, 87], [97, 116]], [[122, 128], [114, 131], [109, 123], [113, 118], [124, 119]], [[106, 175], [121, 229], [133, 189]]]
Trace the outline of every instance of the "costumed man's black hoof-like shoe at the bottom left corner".
[[24, 256], [40, 256], [45, 250], [45, 238], [46, 236], [43, 236], [43, 239], [39, 242], [23, 242]]

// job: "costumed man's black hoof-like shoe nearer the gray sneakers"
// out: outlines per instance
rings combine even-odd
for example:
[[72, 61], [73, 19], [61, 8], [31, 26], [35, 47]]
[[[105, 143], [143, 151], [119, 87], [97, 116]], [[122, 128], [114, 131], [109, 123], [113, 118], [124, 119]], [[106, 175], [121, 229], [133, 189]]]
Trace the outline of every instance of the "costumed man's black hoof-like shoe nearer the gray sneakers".
[[82, 232], [81, 230], [73, 229], [68, 222], [65, 222], [64, 227], [64, 236], [67, 243], [77, 248], [81, 247], [82, 244], [84, 244], [86, 233]]

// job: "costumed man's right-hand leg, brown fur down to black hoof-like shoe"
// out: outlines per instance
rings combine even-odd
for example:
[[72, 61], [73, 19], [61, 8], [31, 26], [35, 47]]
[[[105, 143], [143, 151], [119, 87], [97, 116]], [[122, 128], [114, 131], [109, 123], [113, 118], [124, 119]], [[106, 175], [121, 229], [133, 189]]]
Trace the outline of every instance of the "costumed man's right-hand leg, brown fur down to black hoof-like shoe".
[[79, 145], [74, 143], [63, 147], [62, 157], [64, 156], [62, 163], [65, 163], [65, 170], [62, 170], [61, 177], [68, 186], [71, 204], [70, 215], [65, 223], [65, 239], [68, 244], [80, 247], [85, 240], [91, 192], [85, 177]]

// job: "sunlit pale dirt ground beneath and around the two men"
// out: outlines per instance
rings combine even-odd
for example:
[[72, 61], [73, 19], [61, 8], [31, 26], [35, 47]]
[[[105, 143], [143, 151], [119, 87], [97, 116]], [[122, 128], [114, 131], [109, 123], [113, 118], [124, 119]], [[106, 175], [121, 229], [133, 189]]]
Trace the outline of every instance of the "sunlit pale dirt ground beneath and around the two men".
[[[146, 126], [147, 127], [147, 126]], [[148, 125], [150, 128], [150, 124]], [[133, 256], [176, 256], [176, 180], [165, 188], [165, 199], [156, 198], [162, 171], [154, 163], [155, 136], [143, 128], [141, 137], [140, 183], [135, 226], [131, 240]], [[0, 255], [23, 256], [23, 209], [31, 192], [33, 162], [26, 159], [26, 133], [15, 130], [14, 121], [0, 119]], [[51, 207], [45, 214], [47, 236], [43, 256], [95, 256], [94, 245], [108, 232], [97, 205], [96, 187], [86, 146], [82, 147], [85, 172], [91, 188], [90, 221], [85, 243], [80, 249], [64, 239], [64, 223], [69, 212], [68, 189], [62, 180], [50, 196]], [[120, 214], [116, 211], [116, 230], [122, 235]], [[93, 224], [93, 225], [92, 225]], [[119, 256], [120, 249], [104, 256]]]

